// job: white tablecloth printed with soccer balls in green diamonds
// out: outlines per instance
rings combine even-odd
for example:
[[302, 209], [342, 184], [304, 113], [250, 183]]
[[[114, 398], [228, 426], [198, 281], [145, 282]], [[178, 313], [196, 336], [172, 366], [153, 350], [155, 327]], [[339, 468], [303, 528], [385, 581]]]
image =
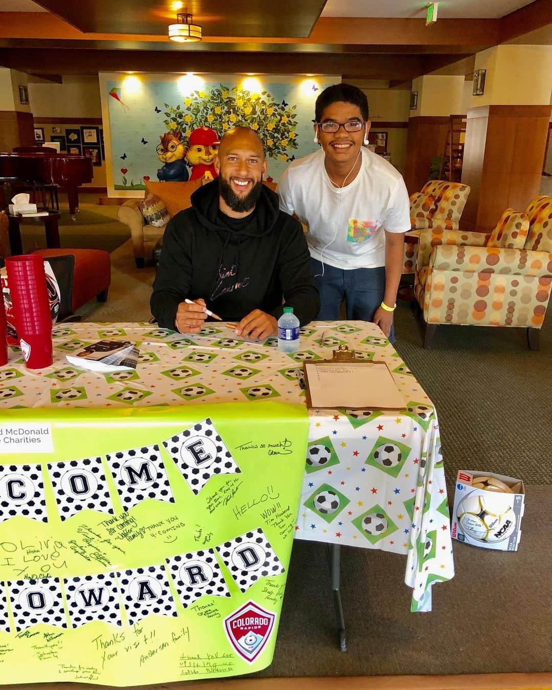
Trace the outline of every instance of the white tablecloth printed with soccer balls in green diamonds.
[[[101, 374], [66, 355], [101, 339], [137, 343], [136, 371]], [[406, 400], [404, 411], [313, 410], [295, 536], [407, 555], [412, 610], [431, 610], [431, 585], [454, 575], [449, 509], [433, 404], [375, 324], [314, 322], [301, 347], [235, 339], [208, 323], [184, 336], [152, 324], [58, 324], [54, 364], [29, 371], [18, 350], [0, 367], [0, 408], [125, 407], [188, 402], [300, 403], [305, 359], [331, 359], [340, 344], [384, 361]]]

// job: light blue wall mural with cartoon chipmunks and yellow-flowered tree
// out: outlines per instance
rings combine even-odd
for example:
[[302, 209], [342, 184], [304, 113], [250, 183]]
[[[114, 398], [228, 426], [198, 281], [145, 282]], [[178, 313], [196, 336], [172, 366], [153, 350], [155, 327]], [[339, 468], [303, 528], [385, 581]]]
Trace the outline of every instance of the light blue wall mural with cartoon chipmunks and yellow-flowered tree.
[[[128, 78], [127, 78], [128, 79]], [[239, 77], [202, 81], [184, 90], [178, 79], [144, 76], [126, 88], [125, 75], [108, 79], [112, 180], [115, 190], [143, 190], [149, 179], [213, 179], [213, 157], [228, 129], [244, 125], [259, 133], [277, 181], [290, 161], [312, 153], [315, 100], [337, 78], [299, 82], [257, 81], [244, 88]], [[273, 77], [274, 79], [274, 77]], [[275, 79], [278, 79], [277, 77]]]

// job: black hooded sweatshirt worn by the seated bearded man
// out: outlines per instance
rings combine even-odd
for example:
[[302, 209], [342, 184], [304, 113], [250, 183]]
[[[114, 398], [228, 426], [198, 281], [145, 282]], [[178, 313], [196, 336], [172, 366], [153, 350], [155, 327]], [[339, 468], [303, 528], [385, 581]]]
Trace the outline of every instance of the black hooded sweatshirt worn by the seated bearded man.
[[279, 210], [278, 196], [265, 185], [243, 219], [219, 210], [213, 180], [197, 189], [192, 206], [172, 218], [150, 301], [161, 328], [175, 328], [184, 299], [202, 297], [225, 321], [238, 322], [253, 309], [278, 319], [293, 306], [302, 326], [320, 308], [310, 255], [301, 224]]

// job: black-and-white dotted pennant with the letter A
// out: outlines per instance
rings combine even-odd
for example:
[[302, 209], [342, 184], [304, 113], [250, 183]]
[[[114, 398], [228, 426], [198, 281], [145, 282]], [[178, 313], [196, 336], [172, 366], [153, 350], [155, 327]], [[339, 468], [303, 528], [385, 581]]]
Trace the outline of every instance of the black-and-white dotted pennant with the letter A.
[[164, 566], [121, 571], [117, 573], [117, 579], [130, 625], [140, 622], [150, 613], [178, 615]]

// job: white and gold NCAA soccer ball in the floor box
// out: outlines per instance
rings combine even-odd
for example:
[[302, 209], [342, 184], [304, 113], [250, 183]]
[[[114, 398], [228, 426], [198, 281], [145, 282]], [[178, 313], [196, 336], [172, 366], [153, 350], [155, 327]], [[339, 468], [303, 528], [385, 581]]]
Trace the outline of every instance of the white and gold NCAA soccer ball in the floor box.
[[504, 494], [474, 496], [472, 493], [460, 502], [456, 511], [464, 533], [477, 542], [490, 544], [509, 538], [515, 529], [511, 498]]

